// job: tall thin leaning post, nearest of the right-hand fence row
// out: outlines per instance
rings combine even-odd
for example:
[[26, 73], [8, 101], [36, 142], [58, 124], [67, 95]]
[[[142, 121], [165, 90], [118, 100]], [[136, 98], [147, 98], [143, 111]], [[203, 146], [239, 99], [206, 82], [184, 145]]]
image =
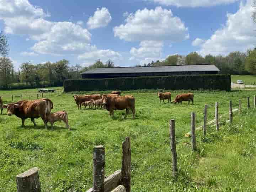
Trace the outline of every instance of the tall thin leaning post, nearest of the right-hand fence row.
[[170, 120], [170, 146], [172, 152], [172, 175], [177, 178], [177, 150], [176, 150], [176, 139], [175, 139], [175, 120]]

